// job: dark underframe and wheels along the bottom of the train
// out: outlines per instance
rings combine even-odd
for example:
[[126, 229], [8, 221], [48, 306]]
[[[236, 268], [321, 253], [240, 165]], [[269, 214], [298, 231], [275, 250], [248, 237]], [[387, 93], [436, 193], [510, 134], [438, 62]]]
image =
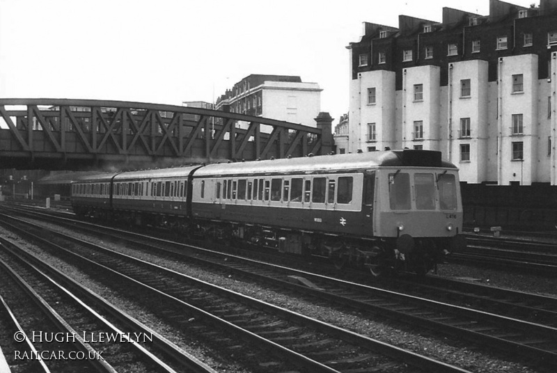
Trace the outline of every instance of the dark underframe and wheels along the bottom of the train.
[[115, 220], [127, 225], [145, 225], [176, 232], [182, 237], [214, 241], [243, 241], [295, 255], [327, 257], [335, 267], [367, 269], [379, 277], [399, 271], [418, 275], [435, 269], [447, 253], [455, 251], [454, 237], [345, 237], [304, 230], [288, 230], [246, 223], [215, 220], [191, 220], [185, 216], [111, 211], [97, 208], [75, 208], [76, 214], [95, 219]]

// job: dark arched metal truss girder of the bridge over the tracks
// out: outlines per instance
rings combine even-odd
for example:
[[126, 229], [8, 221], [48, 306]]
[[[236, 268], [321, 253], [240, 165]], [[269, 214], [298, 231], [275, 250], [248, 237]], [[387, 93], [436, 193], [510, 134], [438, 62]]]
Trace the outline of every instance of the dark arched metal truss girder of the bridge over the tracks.
[[0, 99], [0, 168], [137, 168], [330, 151], [321, 128], [269, 118], [139, 102]]

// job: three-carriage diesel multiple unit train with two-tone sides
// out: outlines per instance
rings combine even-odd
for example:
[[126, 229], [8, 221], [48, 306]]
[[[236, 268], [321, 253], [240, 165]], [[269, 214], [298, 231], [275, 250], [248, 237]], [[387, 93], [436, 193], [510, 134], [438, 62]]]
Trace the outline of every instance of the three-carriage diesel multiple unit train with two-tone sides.
[[322, 255], [373, 276], [426, 273], [462, 246], [457, 168], [427, 150], [106, 173], [71, 193], [79, 215]]

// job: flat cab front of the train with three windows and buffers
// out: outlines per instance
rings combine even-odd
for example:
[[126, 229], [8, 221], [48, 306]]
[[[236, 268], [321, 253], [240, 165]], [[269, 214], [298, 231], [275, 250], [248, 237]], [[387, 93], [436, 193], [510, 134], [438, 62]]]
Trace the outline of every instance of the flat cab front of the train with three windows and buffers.
[[456, 168], [384, 169], [376, 187], [374, 228], [396, 269], [425, 274], [466, 245]]

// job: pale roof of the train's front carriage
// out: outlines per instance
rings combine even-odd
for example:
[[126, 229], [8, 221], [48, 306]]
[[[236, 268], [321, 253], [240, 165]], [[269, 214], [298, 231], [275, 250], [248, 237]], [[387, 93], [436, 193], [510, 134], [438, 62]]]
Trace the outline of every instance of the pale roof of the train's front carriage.
[[335, 154], [317, 157], [274, 159], [229, 164], [210, 164], [197, 170], [194, 177], [210, 175], [236, 175], [242, 173], [265, 174], [358, 170], [389, 166], [440, 167], [457, 169], [457, 166], [454, 164], [441, 160], [441, 152], [433, 150], [387, 150], [384, 152]]

